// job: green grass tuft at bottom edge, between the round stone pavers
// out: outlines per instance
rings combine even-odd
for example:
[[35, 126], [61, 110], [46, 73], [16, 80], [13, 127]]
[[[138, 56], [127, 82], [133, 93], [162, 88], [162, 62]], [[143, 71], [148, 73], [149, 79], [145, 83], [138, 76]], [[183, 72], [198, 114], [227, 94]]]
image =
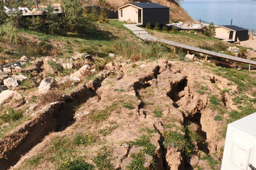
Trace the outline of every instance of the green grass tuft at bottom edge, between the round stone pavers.
[[132, 153], [131, 157], [133, 158], [131, 164], [126, 166], [128, 170], [147, 170], [143, 165], [145, 163], [145, 154]]

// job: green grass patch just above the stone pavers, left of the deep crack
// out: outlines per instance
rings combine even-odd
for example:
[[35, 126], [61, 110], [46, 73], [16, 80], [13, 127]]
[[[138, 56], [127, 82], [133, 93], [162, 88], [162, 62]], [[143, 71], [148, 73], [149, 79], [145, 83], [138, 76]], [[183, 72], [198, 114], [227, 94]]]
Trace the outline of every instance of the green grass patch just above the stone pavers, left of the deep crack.
[[129, 142], [129, 145], [144, 147], [142, 152], [147, 153], [149, 156], [153, 156], [154, 154], [155, 146], [151, 144], [149, 135], [142, 135], [139, 139]]

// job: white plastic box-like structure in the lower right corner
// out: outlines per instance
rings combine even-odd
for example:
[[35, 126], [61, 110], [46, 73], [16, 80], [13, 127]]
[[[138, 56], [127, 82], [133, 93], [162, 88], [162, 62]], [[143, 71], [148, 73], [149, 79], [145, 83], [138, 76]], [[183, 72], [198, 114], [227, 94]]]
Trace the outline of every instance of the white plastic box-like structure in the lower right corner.
[[221, 170], [252, 170], [256, 167], [256, 113], [230, 123]]

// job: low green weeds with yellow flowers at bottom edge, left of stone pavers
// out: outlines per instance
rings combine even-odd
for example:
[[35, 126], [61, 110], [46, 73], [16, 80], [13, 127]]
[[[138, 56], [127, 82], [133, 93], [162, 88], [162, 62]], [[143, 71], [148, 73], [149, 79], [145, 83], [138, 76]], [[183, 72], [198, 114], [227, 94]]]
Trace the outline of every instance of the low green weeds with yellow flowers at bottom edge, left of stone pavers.
[[58, 168], [60, 170], [95, 170], [92, 164], [89, 164], [83, 160], [83, 158], [76, 158], [73, 161], [64, 161]]

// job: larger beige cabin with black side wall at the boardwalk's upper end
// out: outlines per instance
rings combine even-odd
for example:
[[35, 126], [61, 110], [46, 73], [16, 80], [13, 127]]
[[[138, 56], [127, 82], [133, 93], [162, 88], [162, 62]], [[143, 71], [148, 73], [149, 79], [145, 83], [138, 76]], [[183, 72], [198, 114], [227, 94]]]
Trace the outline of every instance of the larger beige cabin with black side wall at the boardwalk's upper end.
[[169, 7], [157, 3], [128, 3], [118, 8], [118, 19], [140, 25], [167, 24], [169, 10]]

